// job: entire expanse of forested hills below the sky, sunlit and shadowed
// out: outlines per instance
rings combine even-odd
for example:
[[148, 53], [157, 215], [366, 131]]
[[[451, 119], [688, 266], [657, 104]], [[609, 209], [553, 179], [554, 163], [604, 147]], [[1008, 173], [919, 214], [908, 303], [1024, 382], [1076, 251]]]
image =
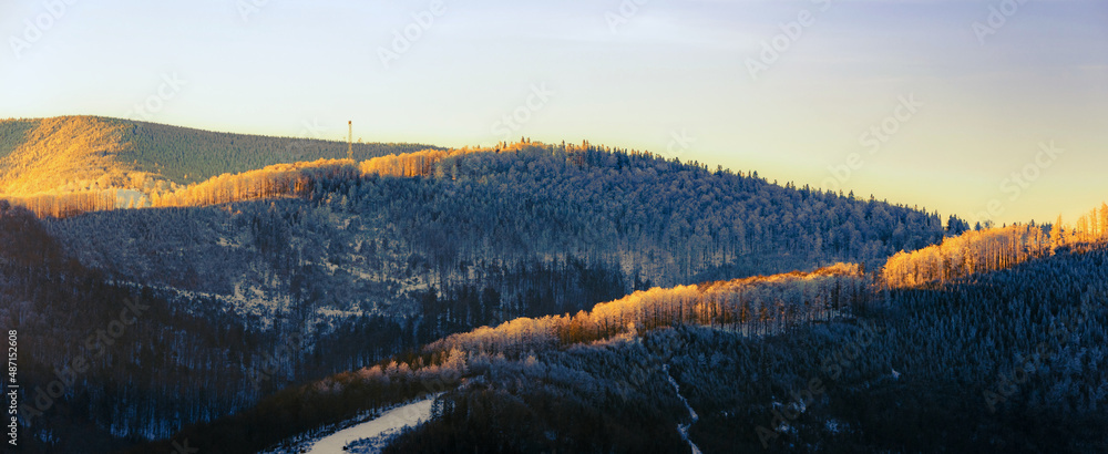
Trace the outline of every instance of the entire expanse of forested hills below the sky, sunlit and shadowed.
[[0, 165], [20, 452], [301, 452], [423, 400], [348, 451], [1108, 451], [1108, 205], [102, 117], [0, 122]]

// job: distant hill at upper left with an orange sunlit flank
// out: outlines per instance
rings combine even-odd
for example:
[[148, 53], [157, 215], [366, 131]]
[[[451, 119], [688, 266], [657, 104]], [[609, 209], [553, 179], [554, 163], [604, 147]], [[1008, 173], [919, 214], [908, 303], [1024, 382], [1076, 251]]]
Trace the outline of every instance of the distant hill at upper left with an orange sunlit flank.
[[[353, 157], [437, 148], [355, 144]], [[0, 121], [0, 194], [197, 183], [280, 163], [347, 156], [343, 142], [215, 133], [99, 116]]]

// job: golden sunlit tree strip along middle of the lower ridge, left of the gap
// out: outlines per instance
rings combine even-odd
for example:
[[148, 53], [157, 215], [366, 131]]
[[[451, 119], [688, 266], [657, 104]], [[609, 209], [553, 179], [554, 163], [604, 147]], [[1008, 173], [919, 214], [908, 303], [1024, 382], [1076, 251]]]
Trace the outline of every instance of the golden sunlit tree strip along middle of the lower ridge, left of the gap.
[[675, 324], [766, 336], [798, 323], [847, 317], [871, 298], [859, 267], [837, 264], [808, 274], [640, 290], [576, 314], [517, 318], [495, 328], [481, 327], [432, 342], [427, 349], [519, 355]]

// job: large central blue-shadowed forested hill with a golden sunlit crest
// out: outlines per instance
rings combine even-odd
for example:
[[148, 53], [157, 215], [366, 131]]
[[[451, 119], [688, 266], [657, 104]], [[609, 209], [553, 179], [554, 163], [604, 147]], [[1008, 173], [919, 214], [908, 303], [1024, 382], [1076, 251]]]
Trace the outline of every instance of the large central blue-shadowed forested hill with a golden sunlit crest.
[[650, 286], [843, 260], [873, 269], [943, 235], [934, 215], [643, 154], [540, 144], [429, 153], [361, 168], [342, 159], [267, 168], [179, 196], [186, 205], [207, 199], [197, 188], [293, 198], [47, 226], [114, 279], [285, 301], [250, 309], [267, 317], [295, 307], [311, 322], [321, 313], [434, 320], [420, 324], [423, 341]]

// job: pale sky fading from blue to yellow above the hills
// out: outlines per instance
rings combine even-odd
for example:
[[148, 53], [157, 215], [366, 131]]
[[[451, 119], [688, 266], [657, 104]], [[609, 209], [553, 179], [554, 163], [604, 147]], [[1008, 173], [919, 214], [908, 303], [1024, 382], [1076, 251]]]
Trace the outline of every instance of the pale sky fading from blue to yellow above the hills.
[[1108, 199], [1108, 2], [0, 3], [0, 117], [588, 141], [996, 224]]

